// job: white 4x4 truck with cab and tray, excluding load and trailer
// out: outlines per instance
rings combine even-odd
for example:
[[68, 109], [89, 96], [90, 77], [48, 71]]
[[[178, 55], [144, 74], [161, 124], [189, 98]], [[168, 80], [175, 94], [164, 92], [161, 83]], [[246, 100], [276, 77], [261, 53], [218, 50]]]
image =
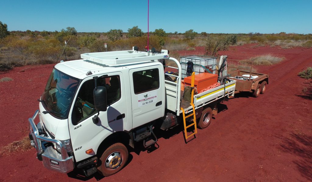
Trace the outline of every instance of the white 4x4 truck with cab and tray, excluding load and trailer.
[[[115, 174], [127, 162], [127, 147], [154, 146], [154, 127], [168, 130], [184, 122], [188, 138], [187, 128], [193, 125], [195, 134], [196, 126], [207, 127], [217, 114], [216, 102], [235, 91], [236, 81], [229, 80], [192, 95], [192, 102], [181, 99], [181, 65], [167, 50], [141, 52], [134, 47], [81, 58], [55, 65], [38, 99], [39, 110], [29, 118], [37, 158], [61, 173], [81, 169], [86, 176]], [[167, 67], [178, 75], [164, 74], [162, 59], [174, 61], [176, 67]], [[193, 119], [185, 116], [190, 113], [196, 113], [189, 115]]]

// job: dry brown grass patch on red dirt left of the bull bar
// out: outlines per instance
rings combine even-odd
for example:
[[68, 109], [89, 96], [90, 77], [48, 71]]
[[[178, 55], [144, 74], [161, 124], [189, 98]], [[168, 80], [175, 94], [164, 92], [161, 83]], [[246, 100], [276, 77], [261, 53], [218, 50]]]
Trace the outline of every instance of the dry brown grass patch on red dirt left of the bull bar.
[[28, 151], [32, 148], [29, 137], [24, 137], [21, 140], [9, 143], [0, 149], [0, 157], [10, 156], [16, 152]]

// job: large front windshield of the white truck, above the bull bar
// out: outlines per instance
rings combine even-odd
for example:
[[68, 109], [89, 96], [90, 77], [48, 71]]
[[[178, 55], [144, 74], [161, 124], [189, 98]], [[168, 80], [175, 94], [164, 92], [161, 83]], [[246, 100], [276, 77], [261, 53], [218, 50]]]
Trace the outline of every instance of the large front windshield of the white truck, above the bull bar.
[[79, 81], [77, 78], [53, 69], [41, 96], [47, 113], [64, 118], [68, 114]]

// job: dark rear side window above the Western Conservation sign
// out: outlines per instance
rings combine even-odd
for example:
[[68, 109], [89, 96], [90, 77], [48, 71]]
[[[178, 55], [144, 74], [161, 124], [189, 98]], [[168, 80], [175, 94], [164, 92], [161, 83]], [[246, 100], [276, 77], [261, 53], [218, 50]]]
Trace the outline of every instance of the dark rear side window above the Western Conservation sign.
[[159, 88], [159, 70], [158, 68], [136, 71], [133, 73], [134, 93], [144, 93]]

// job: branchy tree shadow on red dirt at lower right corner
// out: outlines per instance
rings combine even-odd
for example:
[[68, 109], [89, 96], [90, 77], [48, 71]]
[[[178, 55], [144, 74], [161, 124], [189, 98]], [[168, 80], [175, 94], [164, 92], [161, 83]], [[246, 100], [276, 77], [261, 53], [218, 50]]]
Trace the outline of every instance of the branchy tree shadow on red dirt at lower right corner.
[[283, 152], [296, 155], [301, 159], [293, 161], [306, 181], [312, 181], [312, 136], [292, 133], [280, 145]]

